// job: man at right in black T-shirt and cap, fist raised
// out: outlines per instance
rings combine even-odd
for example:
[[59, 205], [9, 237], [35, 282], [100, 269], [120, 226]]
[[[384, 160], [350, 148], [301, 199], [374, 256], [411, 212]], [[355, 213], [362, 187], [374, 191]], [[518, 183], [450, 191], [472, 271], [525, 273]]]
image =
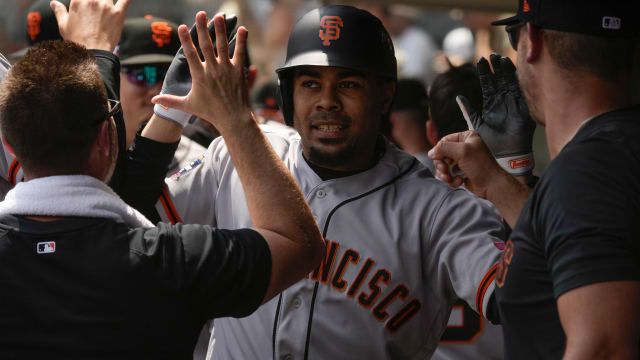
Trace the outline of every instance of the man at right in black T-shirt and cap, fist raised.
[[[515, 225], [496, 277], [510, 359], [638, 358], [637, 14], [636, 2], [521, 0], [516, 16], [494, 23], [507, 26], [518, 51], [518, 78], [553, 159], [533, 192], [483, 143], [521, 141], [517, 127], [504, 126], [516, 103], [472, 111], [477, 133], [450, 135], [433, 149], [441, 179], [463, 181], [442, 160], [457, 162], [465, 186]], [[517, 91], [481, 80], [485, 106]]]

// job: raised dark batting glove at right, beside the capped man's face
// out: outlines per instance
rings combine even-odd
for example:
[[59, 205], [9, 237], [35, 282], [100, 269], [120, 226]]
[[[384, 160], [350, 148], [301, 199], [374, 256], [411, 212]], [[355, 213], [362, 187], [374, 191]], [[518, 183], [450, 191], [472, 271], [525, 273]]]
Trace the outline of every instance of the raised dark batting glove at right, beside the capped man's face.
[[516, 68], [507, 57], [492, 54], [489, 62], [478, 62], [482, 87], [482, 113], [472, 109], [464, 96], [460, 101], [478, 132], [500, 166], [512, 175], [523, 175], [534, 167], [532, 143], [536, 123], [520, 91]]

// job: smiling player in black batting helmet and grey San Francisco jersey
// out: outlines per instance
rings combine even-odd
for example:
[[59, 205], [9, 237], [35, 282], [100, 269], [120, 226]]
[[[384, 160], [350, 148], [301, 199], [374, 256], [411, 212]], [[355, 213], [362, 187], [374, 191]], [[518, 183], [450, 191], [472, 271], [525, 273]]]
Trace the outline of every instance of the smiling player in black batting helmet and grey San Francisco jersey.
[[[262, 129], [302, 188], [326, 255], [253, 315], [216, 319], [214, 359], [429, 358], [457, 299], [494, 316], [500, 220], [378, 135], [393, 54], [380, 21], [353, 7], [315, 9], [293, 29], [278, 77], [285, 121], [300, 135]], [[177, 127], [183, 117], [163, 110], [172, 121], [148, 126]], [[166, 182], [157, 209], [167, 220], [251, 227], [224, 139]]]

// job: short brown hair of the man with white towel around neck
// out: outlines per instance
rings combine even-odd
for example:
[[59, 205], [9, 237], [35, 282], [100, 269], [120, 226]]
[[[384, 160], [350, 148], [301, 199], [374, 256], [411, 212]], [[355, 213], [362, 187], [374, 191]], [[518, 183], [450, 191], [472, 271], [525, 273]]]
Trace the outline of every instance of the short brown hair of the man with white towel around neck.
[[37, 44], [0, 89], [2, 135], [29, 171], [85, 170], [97, 125], [108, 113], [94, 56], [72, 42]]

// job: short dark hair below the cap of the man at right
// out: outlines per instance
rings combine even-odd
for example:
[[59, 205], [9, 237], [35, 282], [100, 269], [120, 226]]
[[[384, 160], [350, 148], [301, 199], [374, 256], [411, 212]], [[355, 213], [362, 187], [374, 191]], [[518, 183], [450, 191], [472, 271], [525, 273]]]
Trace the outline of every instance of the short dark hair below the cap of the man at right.
[[631, 76], [637, 38], [613, 38], [544, 30], [549, 54], [568, 72], [591, 73], [613, 82]]

